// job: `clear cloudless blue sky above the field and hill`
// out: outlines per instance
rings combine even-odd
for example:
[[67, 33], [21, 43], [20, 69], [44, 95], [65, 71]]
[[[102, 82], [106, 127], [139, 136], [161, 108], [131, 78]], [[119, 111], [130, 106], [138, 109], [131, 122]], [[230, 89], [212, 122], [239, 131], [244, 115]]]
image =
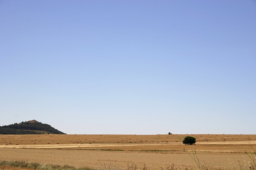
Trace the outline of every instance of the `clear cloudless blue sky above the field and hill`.
[[256, 134], [256, 1], [0, 0], [0, 117]]

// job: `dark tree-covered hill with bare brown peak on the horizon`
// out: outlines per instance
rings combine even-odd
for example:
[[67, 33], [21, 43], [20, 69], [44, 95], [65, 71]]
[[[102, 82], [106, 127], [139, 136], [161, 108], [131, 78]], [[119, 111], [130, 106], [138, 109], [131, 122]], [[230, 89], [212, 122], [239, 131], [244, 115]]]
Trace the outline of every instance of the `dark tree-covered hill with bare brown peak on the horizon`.
[[14, 123], [12, 125], [0, 126], [0, 134], [4, 135], [28, 135], [28, 134], [65, 134], [51, 125], [36, 120]]

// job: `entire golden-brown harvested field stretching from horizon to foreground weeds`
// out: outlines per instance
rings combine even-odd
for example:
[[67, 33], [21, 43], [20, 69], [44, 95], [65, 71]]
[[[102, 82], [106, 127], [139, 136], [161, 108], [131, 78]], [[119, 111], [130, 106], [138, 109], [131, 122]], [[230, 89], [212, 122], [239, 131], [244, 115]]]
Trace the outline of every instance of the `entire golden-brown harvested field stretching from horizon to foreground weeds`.
[[[196, 145], [183, 145], [186, 136]], [[0, 135], [0, 160], [26, 160], [44, 164], [104, 169], [161, 170], [172, 163], [198, 169], [193, 156], [210, 169], [238, 169], [238, 160], [249, 161], [246, 151], [256, 147], [256, 135]], [[108, 168], [109, 169], [109, 168]]]

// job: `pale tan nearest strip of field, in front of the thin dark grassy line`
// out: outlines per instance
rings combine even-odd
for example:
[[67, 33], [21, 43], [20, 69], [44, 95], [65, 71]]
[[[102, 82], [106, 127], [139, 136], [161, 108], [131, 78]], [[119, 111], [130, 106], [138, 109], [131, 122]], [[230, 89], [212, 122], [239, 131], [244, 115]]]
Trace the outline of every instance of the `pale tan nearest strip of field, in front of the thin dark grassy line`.
[[[253, 152], [248, 152], [247, 154], [199, 152], [196, 154], [196, 161], [200, 163], [198, 166], [196, 161], [190, 157], [194, 156], [194, 152], [171, 153], [56, 149], [0, 149], [0, 152], [2, 153], [0, 154], [0, 160], [2, 162], [16, 162], [16, 160], [22, 162], [26, 160], [25, 162], [38, 162], [37, 164], [45, 167], [49, 167], [48, 165], [59, 167], [55, 169], [72, 167], [71, 169], [87, 168], [88, 170], [142, 170], [143, 168], [147, 170], [253, 170], [252, 160], [255, 161], [256, 157]], [[251, 159], [248, 156], [249, 154], [254, 157], [251, 157]], [[240, 160], [240, 165], [238, 160]], [[13, 166], [13, 164], [6, 163], [2, 165]]]

